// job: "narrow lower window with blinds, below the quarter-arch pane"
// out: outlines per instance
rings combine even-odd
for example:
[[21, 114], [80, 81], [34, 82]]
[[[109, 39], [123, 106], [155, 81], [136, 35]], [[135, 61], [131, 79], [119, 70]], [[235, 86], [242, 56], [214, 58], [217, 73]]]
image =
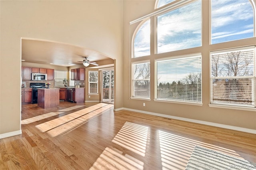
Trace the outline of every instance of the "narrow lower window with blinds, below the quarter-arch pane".
[[150, 99], [150, 62], [132, 63], [132, 97]]

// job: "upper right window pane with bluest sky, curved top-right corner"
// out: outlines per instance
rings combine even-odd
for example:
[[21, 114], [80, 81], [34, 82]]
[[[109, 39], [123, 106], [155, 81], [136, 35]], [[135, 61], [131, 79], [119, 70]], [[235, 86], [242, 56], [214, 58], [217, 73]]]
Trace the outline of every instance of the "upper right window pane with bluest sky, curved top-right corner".
[[249, 0], [212, 0], [211, 43], [254, 36], [254, 12]]

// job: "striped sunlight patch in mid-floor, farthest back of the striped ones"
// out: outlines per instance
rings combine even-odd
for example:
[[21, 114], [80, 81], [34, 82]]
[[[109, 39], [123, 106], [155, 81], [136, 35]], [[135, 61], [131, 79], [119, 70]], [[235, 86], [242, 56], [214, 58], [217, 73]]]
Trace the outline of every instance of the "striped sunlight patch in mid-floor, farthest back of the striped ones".
[[148, 127], [126, 122], [112, 142], [141, 156], [145, 156], [148, 135]]

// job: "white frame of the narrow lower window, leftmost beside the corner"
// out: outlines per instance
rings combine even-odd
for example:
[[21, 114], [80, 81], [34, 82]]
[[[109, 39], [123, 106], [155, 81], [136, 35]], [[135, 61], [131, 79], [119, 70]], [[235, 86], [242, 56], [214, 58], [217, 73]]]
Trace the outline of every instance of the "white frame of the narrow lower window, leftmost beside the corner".
[[[135, 64], [142, 64], [142, 63], [149, 63], [150, 64], [150, 60], [143, 60], [143, 61], [136, 61], [136, 62], [132, 62], [131, 63], [131, 66], [132, 66], [132, 69], [131, 69], [131, 87], [132, 87], [132, 93], [131, 93], [131, 97], [130, 99], [138, 99], [138, 100], [147, 100], [147, 101], [150, 101], [150, 89], [149, 89], [149, 97], [136, 97], [134, 96], [134, 65]], [[150, 65], [149, 65], [149, 69], [150, 69]], [[142, 79], [141, 79], [142, 80]], [[143, 80], [148, 80], [150, 82], [150, 78], [149, 79], [143, 79]], [[151, 82], [150, 82], [151, 83]], [[151, 86], [151, 85], [150, 85]]]

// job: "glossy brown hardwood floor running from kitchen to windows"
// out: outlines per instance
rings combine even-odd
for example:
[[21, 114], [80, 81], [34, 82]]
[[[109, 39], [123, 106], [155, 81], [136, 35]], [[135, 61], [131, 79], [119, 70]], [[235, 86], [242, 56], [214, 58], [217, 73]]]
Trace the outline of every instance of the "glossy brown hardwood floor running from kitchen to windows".
[[21, 119], [21, 135], [0, 139], [1, 170], [184, 170], [195, 145], [256, 164], [256, 134], [104, 103], [22, 105]]

